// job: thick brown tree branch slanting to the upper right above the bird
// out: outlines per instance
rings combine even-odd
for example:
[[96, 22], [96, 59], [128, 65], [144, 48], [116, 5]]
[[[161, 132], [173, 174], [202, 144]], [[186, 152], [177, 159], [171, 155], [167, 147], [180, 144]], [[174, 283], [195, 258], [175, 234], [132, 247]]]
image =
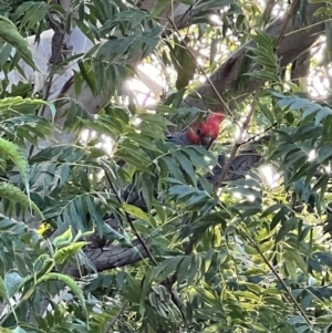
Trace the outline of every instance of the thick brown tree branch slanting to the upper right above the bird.
[[[266, 32], [271, 38], [278, 38], [283, 31], [283, 27], [287, 22], [287, 28], [283, 31], [283, 39], [280, 42], [280, 45], [277, 50], [278, 56], [281, 59], [281, 66], [286, 67], [289, 63], [293, 62], [299, 55], [308, 51], [317, 39], [320, 37], [320, 33], [324, 31], [324, 22], [320, 21], [320, 17], [313, 17], [313, 13], [321, 8], [322, 4], [308, 4], [308, 25], [303, 29], [300, 25], [300, 22], [291, 25], [291, 22], [287, 21], [287, 17], [282, 17], [272, 22], [267, 29]], [[292, 33], [288, 33], [292, 31]], [[248, 48], [255, 46], [255, 42], [249, 41], [237, 51], [228, 56], [225, 63], [212, 74], [210, 75], [210, 81], [214, 86], [217, 89], [219, 94], [222, 94], [227, 91], [231, 91], [235, 86], [235, 83], [238, 79], [238, 73], [241, 67], [243, 58], [248, 52]], [[258, 91], [262, 85], [263, 81], [256, 77], [249, 76], [246, 79], [245, 86], [241, 92], [235, 96], [235, 101], [238, 103], [246, 95]], [[201, 96], [212, 97], [218, 100], [214, 89], [208, 81], [203, 83], [197, 90]], [[238, 97], [240, 95], [240, 97]], [[185, 100], [187, 105], [196, 106], [199, 108], [205, 107], [205, 104], [195, 96], [189, 95]], [[230, 106], [232, 103], [230, 104]], [[220, 110], [221, 104], [208, 104], [209, 108], [217, 112]]]

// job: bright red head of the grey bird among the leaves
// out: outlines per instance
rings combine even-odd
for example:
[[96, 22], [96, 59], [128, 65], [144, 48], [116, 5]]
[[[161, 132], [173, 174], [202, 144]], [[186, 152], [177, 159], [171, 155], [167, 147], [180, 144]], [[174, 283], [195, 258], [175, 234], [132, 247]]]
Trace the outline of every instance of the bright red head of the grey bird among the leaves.
[[218, 137], [224, 118], [221, 113], [211, 113], [204, 121], [194, 122], [187, 131], [187, 139], [193, 145], [203, 145], [208, 149]]

